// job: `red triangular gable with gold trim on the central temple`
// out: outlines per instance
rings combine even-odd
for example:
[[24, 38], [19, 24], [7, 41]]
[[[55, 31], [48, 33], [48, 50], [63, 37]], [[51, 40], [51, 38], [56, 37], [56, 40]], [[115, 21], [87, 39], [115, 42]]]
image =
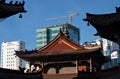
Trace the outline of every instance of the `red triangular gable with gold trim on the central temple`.
[[73, 42], [70, 38], [64, 34], [61, 30], [58, 35], [47, 45], [40, 48], [39, 52], [56, 52], [65, 50], [78, 50], [84, 49], [83, 46]]

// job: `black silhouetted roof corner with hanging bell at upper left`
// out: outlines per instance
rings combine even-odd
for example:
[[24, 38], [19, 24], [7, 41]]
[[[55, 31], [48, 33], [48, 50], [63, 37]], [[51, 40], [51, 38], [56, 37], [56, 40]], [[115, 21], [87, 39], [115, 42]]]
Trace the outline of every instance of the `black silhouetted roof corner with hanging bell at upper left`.
[[[27, 12], [24, 9], [24, 4], [25, 4], [25, 1], [23, 2], [16, 1], [15, 3], [10, 1], [9, 3], [6, 3], [5, 0], [1, 0], [0, 1], [0, 19], [5, 19], [18, 13]], [[21, 17], [22, 16], [20, 14], [20, 18]]]

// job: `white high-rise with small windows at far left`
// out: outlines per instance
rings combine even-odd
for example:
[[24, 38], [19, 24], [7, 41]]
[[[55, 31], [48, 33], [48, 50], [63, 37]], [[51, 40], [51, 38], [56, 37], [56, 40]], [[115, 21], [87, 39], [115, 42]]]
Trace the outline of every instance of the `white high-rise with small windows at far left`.
[[23, 41], [2, 42], [1, 44], [1, 67], [19, 70], [25, 67], [25, 61], [15, 55], [15, 50], [25, 50]]

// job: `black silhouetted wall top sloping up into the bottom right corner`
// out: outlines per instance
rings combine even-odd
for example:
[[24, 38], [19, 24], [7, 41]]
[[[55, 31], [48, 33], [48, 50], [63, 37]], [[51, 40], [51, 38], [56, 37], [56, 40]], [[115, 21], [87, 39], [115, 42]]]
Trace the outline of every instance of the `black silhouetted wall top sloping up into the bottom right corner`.
[[119, 79], [120, 67], [115, 67], [100, 72], [79, 72], [74, 79]]

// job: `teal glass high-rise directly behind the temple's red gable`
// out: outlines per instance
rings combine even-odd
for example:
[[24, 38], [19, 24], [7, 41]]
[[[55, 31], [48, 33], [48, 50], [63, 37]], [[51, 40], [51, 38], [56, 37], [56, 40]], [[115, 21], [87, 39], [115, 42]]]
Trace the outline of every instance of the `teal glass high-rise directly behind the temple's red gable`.
[[58, 24], [48, 27], [39, 28], [36, 30], [36, 47], [41, 48], [44, 45], [46, 45], [49, 41], [51, 41], [61, 30], [64, 32], [67, 28], [67, 31], [69, 32], [70, 39], [72, 39], [74, 42], [79, 43], [80, 41], [80, 30], [79, 28], [65, 23], [65, 24]]

